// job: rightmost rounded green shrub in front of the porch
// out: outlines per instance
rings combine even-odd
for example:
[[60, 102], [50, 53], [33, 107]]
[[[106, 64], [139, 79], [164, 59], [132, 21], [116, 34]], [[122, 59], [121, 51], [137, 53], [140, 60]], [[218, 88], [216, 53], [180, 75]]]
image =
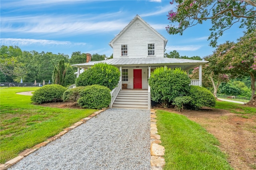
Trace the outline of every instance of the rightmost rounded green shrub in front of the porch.
[[189, 96], [192, 100], [188, 103], [192, 109], [200, 109], [203, 106], [214, 107], [216, 99], [213, 94], [204, 87], [191, 86]]

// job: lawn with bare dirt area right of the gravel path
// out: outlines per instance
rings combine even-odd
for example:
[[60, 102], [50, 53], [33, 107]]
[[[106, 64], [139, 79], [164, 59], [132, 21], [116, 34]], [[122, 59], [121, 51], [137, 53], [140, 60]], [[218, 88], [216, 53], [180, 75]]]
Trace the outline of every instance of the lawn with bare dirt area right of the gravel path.
[[158, 110], [157, 119], [166, 170], [256, 170], [256, 107], [217, 101], [201, 111]]

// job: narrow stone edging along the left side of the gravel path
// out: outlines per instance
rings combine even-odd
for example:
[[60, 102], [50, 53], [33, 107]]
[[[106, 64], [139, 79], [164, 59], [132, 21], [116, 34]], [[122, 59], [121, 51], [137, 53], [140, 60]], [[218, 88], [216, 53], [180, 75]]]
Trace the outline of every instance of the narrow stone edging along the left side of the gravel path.
[[67, 127], [65, 129], [63, 129], [64, 131], [61, 131], [59, 134], [50, 137], [48, 139], [46, 139], [46, 141], [39, 143], [37, 145], [35, 145], [34, 147], [30, 148], [30, 149], [26, 149], [22, 152], [20, 152], [19, 156], [12, 158], [11, 160], [8, 160], [7, 162], [5, 162], [4, 164], [0, 164], [0, 170], [6, 170], [8, 168], [10, 168], [10, 166], [16, 164], [17, 162], [19, 162], [20, 160], [22, 160], [25, 156], [28, 156], [29, 154], [35, 152], [36, 150], [38, 150], [41, 147], [46, 146], [48, 143], [55, 141], [56, 139], [59, 139], [60, 137], [62, 137], [65, 133], [68, 133], [68, 131], [71, 131], [72, 129], [82, 125], [83, 123], [86, 123], [86, 121], [88, 121], [89, 119], [91, 119], [92, 117], [98, 115], [99, 113], [101, 113], [102, 111], [105, 111], [106, 108], [101, 109], [99, 111], [94, 111], [91, 115], [89, 115], [88, 117], [81, 119], [80, 121], [74, 123], [74, 125]]

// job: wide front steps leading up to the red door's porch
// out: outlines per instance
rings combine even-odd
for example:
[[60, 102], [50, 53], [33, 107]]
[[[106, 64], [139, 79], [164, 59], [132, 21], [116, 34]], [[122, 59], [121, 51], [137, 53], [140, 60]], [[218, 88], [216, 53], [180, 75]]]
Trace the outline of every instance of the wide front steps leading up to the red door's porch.
[[148, 109], [148, 90], [120, 90], [112, 107]]

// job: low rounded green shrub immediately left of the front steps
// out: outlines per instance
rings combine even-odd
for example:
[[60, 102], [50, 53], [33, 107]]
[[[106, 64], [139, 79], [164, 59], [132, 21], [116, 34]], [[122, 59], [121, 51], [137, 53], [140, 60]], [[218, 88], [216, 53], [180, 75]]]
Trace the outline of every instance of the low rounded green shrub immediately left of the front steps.
[[84, 90], [80, 92], [80, 98], [77, 103], [80, 107], [88, 109], [102, 109], [103, 107], [108, 107], [110, 101], [110, 89], [94, 84], [92, 86], [86, 86]]

